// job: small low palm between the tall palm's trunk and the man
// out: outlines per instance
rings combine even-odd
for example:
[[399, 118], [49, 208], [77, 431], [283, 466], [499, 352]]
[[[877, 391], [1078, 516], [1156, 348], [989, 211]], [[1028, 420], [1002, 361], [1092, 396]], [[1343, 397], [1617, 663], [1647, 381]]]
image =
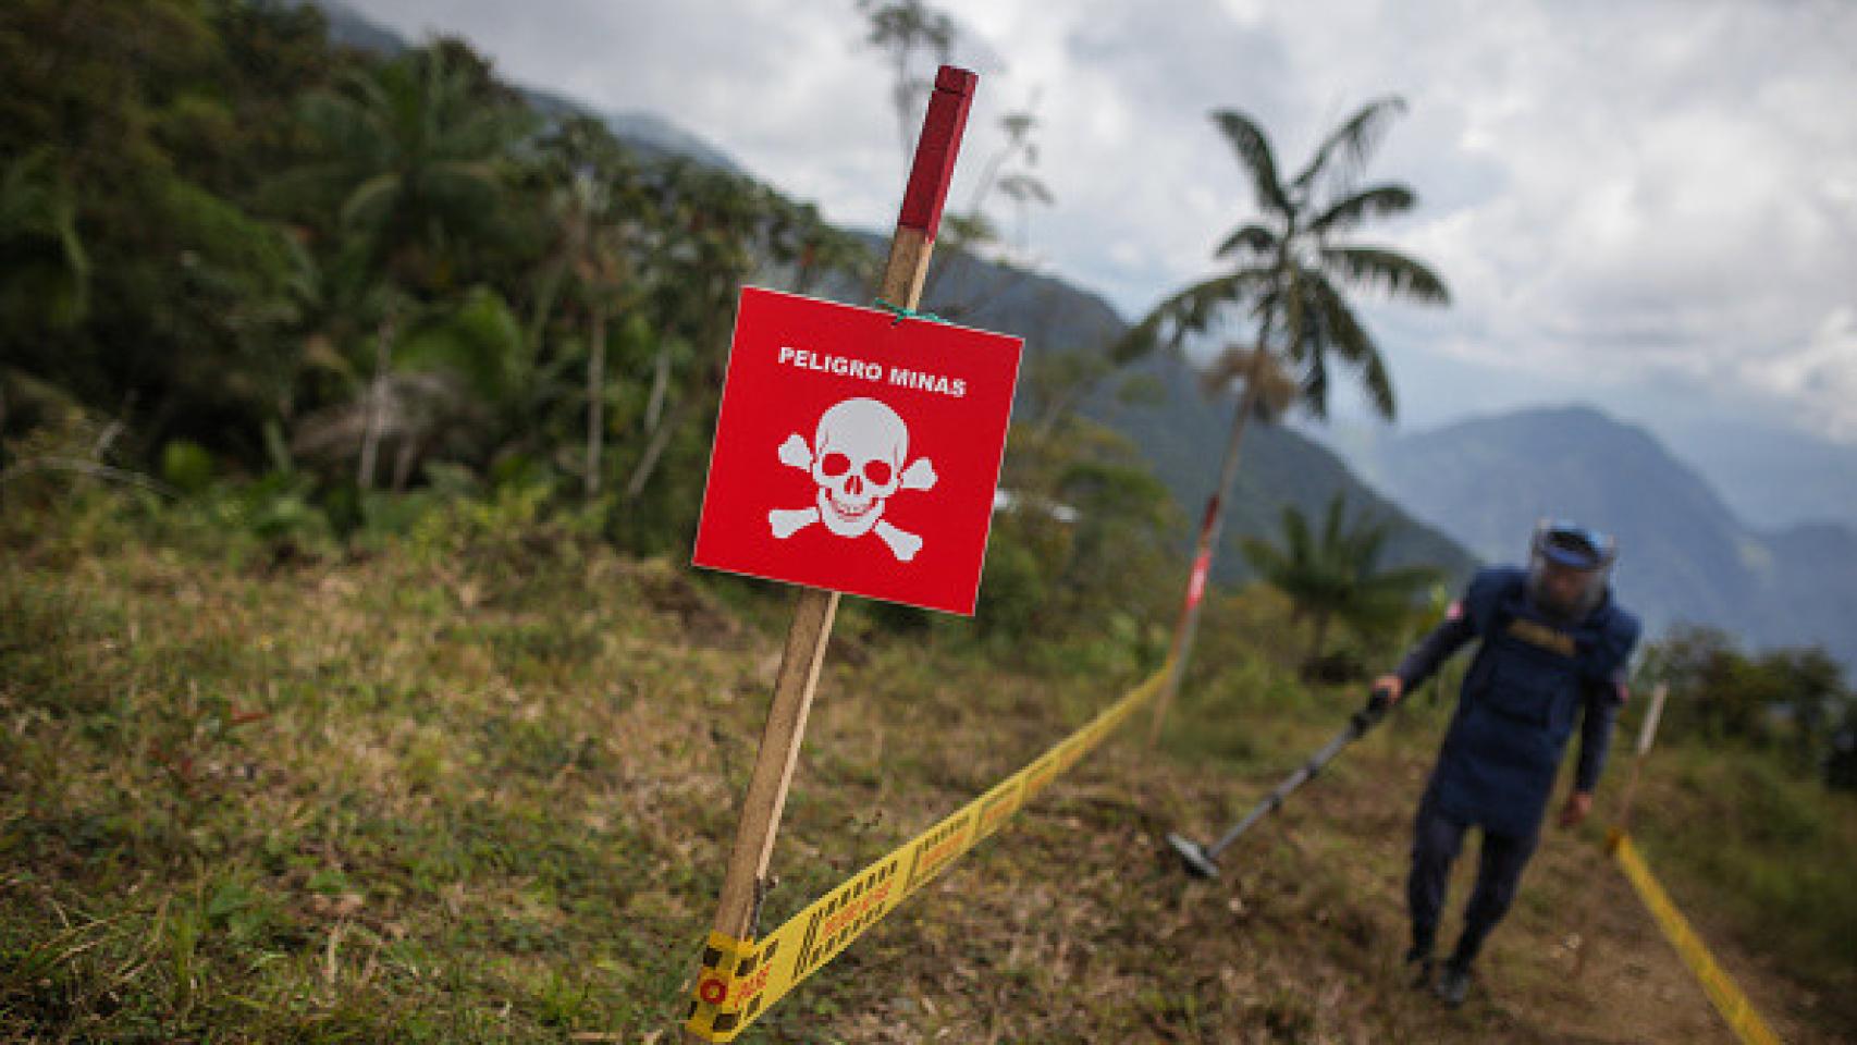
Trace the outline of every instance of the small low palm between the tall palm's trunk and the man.
[[1437, 570], [1408, 566], [1380, 570], [1393, 527], [1356, 520], [1344, 523], [1343, 496], [1328, 501], [1322, 533], [1309, 533], [1302, 509], [1283, 509], [1281, 548], [1259, 538], [1244, 540], [1244, 559], [1270, 587], [1289, 596], [1294, 622], [1311, 622], [1309, 650], [1304, 666], [1322, 655], [1328, 627], [1341, 620], [1369, 631], [1398, 620], [1411, 605], [1413, 594], [1437, 581]]

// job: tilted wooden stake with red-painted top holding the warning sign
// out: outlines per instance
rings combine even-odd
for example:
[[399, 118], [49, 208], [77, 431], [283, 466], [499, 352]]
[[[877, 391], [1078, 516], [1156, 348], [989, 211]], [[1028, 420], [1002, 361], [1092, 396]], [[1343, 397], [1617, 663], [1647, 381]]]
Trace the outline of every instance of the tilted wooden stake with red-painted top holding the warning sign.
[[[916, 143], [916, 163], [903, 193], [897, 230], [890, 239], [890, 260], [878, 280], [877, 293], [891, 304], [916, 308], [921, 304], [923, 280], [928, 277], [928, 258], [934, 254], [934, 234], [941, 223], [941, 204], [954, 174], [954, 158], [967, 126], [967, 108], [979, 76], [966, 69], [943, 65], [936, 74], [928, 111], [923, 113], [923, 134]], [[722, 895], [715, 908], [715, 932], [734, 939], [754, 939], [754, 924], [767, 891], [767, 865], [774, 856], [774, 837], [780, 833], [780, 813], [787, 804], [793, 767], [806, 739], [806, 715], [812, 711], [819, 687], [819, 668], [832, 637], [832, 618], [838, 614], [838, 592], [800, 588], [787, 627], [787, 644], [780, 655], [780, 674], [774, 677], [774, 700], [767, 709], [761, 746], [754, 755], [748, 794], [741, 804], [741, 822], [735, 828], [735, 846], [722, 876]], [[704, 1041], [685, 1030], [685, 1041]]]

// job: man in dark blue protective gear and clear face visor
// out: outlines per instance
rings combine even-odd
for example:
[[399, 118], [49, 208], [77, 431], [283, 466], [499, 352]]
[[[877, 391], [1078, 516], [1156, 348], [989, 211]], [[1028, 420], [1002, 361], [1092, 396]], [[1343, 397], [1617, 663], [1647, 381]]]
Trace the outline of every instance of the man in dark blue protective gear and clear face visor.
[[1452, 1008], [1463, 1004], [1471, 963], [1515, 898], [1575, 724], [1580, 759], [1560, 824], [1571, 828], [1591, 811], [1640, 631], [1638, 618], [1612, 596], [1616, 561], [1610, 536], [1543, 522], [1534, 531], [1528, 570], [1478, 572], [1445, 622], [1393, 674], [1374, 681], [1376, 700], [1395, 702], [1473, 639], [1482, 640], [1419, 802], [1406, 887], [1408, 961], [1417, 986], [1430, 986], [1450, 865], [1463, 833], [1482, 828], [1463, 935], [1434, 986]]

